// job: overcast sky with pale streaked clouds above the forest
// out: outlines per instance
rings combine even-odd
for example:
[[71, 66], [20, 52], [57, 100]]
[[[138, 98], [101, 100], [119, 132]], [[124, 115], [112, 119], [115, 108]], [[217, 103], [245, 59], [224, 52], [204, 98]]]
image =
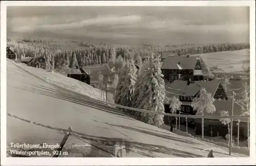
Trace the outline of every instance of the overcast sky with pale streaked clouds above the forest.
[[249, 7], [7, 7], [7, 34], [127, 45], [249, 42]]

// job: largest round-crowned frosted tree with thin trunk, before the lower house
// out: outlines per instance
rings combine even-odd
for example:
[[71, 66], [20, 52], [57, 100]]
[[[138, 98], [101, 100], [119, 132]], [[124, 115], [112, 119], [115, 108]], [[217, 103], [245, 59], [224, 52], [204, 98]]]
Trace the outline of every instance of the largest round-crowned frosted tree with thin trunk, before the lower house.
[[[191, 107], [197, 110], [196, 114], [204, 116], [204, 112], [214, 113], [216, 111], [214, 106], [215, 99], [211, 96], [211, 93], [207, 93], [205, 88], [201, 88], [199, 94], [199, 98], [194, 97], [191, 103]], [[202, 138], [204, 138], [204, 118], [202, 118]]]

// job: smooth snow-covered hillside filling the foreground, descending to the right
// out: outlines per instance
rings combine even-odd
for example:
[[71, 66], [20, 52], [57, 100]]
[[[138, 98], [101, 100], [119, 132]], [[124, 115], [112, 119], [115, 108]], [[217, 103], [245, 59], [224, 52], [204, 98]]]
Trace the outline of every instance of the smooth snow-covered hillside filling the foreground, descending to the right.
[[[230, 157], [228, 148], [158, 129], [93, 102], [90, 97], [70, 94], [65, 88], [79, 91], [74, 87], [78, 84], [75, 80], [20, 67], [63, 88], [56, 88], [7, 60], [7, 146], [10, 142], [60, 143], [62, 131], [72, 127], [77, 137], [68, 138], [69, 146], [64, 151], [69, 152], [69, 157], [112, 157], [115, 144], [126, 147], [122, 157], [207, 157], [209, 149], [214, 150], [215, 157]], [[90, 86], [84, 85], [83, 93], [98, 97]], [[239, 153], [232, 156], [247, 157]]]

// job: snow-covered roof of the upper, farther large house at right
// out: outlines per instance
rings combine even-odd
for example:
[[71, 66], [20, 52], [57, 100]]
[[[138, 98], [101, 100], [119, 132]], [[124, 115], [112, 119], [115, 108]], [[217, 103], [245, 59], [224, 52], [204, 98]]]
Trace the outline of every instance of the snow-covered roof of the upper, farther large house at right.
[[[161, 69], [191, 69], [193, 70], [196, 66], [199, 56], [167, 56], [163, 60]], [[179, 65], [179, 66], [178, 66]]]

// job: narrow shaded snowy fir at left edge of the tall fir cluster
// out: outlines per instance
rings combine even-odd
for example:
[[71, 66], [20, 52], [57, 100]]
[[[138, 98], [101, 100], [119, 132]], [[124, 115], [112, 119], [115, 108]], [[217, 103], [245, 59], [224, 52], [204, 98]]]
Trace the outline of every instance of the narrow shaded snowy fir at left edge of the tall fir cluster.
[[125, 69], [126, 63], [123, 64], [122, 68], [118, 70], [118, 83], [115, 89], [115, 95], [114, 95], [114, 102], [119, 105], [121, 102], [121, 90], [124, 85], [124, 76], [126, 75], [126, 69]]

